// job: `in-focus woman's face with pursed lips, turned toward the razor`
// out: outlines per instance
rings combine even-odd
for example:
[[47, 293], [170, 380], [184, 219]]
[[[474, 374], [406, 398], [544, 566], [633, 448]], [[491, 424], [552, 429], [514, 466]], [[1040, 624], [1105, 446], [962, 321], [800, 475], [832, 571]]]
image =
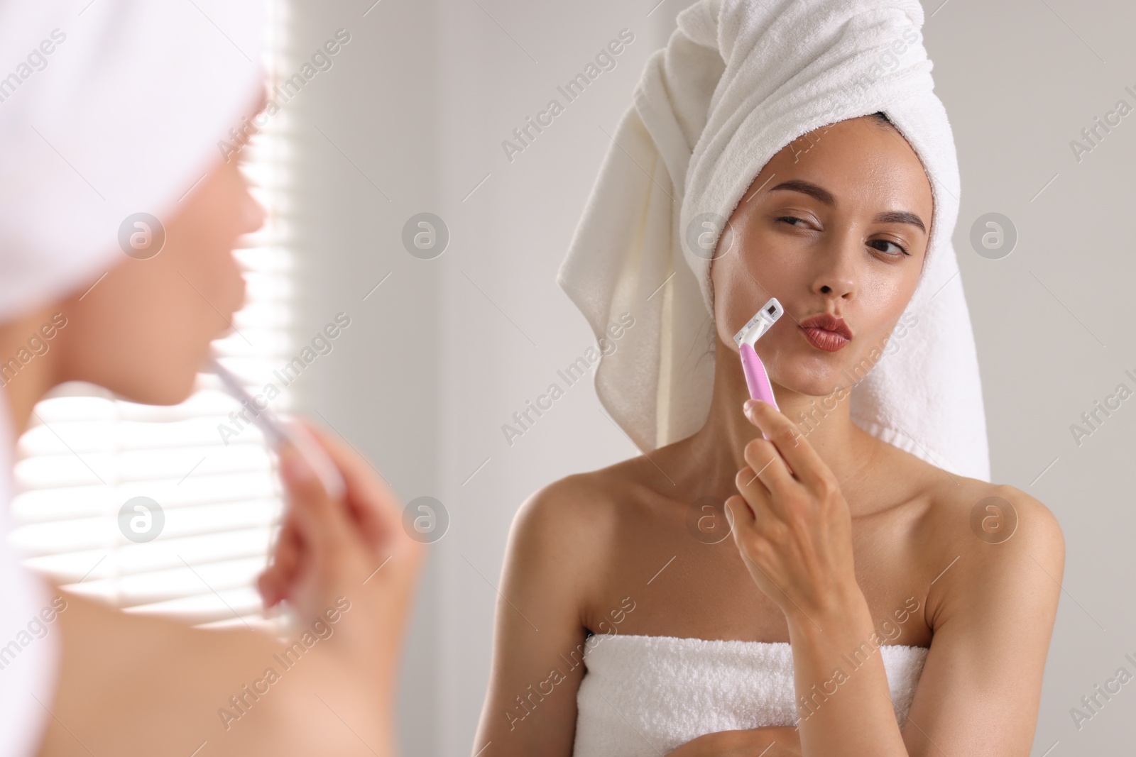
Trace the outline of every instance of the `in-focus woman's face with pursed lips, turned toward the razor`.
[[[827, 396], [862, 378], [919, 281], [930, 184], [907, 141], [876, 120], [819, 128], [774, 155], [711, 262], [718, 338], [730, 348], [769, 297], [785, 308], [757, 352], [793, 392]], [[836, 351], [810, 342], [800, 322], [820, 313], [843, 318], [851, 340]]]

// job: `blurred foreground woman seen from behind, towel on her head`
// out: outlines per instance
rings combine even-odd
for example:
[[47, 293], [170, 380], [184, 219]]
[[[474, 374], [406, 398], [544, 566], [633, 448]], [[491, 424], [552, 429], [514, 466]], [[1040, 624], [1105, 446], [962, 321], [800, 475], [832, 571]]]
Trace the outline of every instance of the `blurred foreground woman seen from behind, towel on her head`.
[[[185, 399], [244, 297], [234, 244], [264, 219], [217, 148], [262, 123], [259, 3], [50, 6], [0, 5], [0, 49], [36, 64], [0, 106], [0, 754], [391, 755], [421, 548], [341, 440], [312, 429], [343, 502], [282, 456], [290, 506], [260, 590], [319, 634], [286, 672], [287, 642], [119, 612], [33, 577], [7, 546], [12, 443], [36, 401], [68, 380]], [[123, 221], [137, 211], [160, 220], [133, 245], [143, 227]], [[33, 626], [41, 638], [18, 641]]]

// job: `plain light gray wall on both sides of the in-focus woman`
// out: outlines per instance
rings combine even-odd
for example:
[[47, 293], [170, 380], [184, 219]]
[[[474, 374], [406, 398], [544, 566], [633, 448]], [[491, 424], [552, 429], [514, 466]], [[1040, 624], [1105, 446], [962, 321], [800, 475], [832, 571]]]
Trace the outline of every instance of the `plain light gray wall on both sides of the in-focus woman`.
[[[683, 7], [668, 0], [648, 16], [653, 5], [383, 0], [364, 18], [370, 0], [361, 0], [295, 10], [300, 57], [339, 27], [352, 34], [335, 67], [294, 101], [298, 338], [339, 310], [353, 320], [334, 360], [298, 388], [404, 501], [435, 496], [452, 519], [431, 547], [409, 634], [400, 710], [408, 755], [470, 750], [494, 587], [520, 502], [569, 472], [636, 454], [600, 414], [590, 382], [569, 388], [512, 446], [501, 424], [592, 340], [554, 276], [607, 149], [604, 131], [613, 132]], [[1067, 539], [1033, 754], [1054, 742], [1053, 757], [1118, 754], [1130, 743], [1131, 687], [1080, 731], [1069, 709], [1117, 667], [1136, 672], [1124, 658], [1136, 657], [1127, 496], [1136, 398], [1080, 446], [1069, 427], [1118, 384], [1136, 389], [1124, 373], [1136, 375], [1126, 312], [1136, 274], [1127, 230], [1136, 115], [1079, 163], [1069, 142], [1118, 99], [1136, 106], [1124, 90], [1136, 91], [1136, 10], [1120, 0], [925, 8], [962, 169], [954, 243], [993, 478], [1049, 505]], [[635, 42], [617, 67], [510, 162], [501, 141], [624, 27]], [[403, 222], [420, 211], [451, 233], [435, 260], [401, 246]], [[1019, 234], [1001, 260], [969, 242], [975, 219], [992, 211]]]

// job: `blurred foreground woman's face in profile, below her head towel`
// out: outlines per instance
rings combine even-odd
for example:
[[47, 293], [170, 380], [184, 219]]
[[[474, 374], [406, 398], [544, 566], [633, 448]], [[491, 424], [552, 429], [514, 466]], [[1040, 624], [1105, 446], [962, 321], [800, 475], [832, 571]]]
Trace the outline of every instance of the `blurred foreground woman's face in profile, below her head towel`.
[[237, 161], [218, 160], [161, 219], [166, 242], [157, 255], [123, 254], [89, 293], [84, 286], [60, 303], [67, 328], [58, 337], [66, 344], [59, 380], [91, 381], [148, 404], [185, 399], [209, 343], [244, 301], [236, 238], [264, 218]]

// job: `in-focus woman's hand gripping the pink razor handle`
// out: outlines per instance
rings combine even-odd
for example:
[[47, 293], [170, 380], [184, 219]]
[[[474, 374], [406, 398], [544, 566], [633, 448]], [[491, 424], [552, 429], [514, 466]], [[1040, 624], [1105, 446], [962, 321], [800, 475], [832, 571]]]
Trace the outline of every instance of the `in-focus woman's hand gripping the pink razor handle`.
[[788, 418], [760, 399], [745, 407], [769, 439], [745, 445], [749, 465], [735, 479], [741, 495], [726, 501], [730, 532], [758, 587], [791, 621], [813, 622], [860, 591], [847, 502]]

